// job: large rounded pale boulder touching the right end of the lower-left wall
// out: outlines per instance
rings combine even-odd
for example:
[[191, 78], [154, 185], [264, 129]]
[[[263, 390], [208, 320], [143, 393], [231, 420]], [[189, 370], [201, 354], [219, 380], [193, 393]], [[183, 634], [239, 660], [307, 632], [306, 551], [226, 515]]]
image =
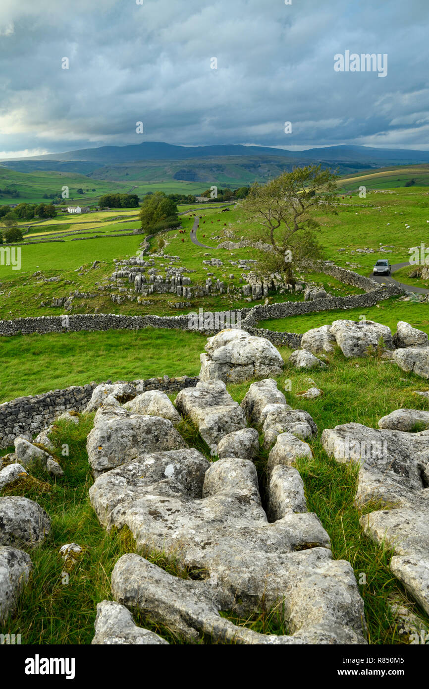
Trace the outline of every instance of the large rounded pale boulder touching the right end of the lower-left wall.
[[207, 340], [200, 355], [200, 381], [243, 382], [280, 376], [283, 360], [274, 345], [244, 330], [227, 329]]

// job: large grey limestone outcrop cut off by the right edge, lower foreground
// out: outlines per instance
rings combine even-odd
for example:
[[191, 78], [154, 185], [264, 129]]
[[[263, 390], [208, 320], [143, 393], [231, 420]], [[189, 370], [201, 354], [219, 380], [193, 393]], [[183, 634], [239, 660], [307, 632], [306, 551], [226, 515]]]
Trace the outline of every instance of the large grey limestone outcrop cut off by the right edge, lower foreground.
[[429, 613], [429, 431], [326, 429], [322, 444], [337, 462], [359, 464], [357, 504], [384, 508], [361, 517], [364, 533], [392, 548], [393, 574]]

